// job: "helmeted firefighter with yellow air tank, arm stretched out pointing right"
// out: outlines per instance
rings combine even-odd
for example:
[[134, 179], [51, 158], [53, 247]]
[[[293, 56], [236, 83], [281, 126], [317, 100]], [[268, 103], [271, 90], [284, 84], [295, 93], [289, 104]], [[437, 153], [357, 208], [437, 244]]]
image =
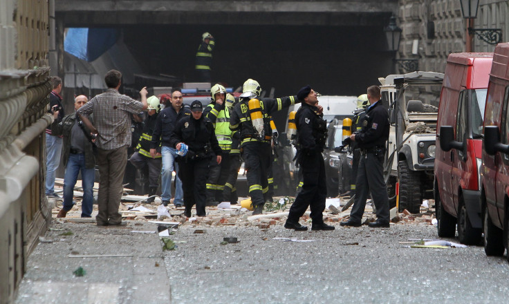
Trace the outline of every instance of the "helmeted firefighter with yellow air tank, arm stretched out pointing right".
[[297, 96], [261, 99], [261, 86], [254, 79], [243, 84], [239, 104], [230, 113], [230, 129], [240, 132], [241, 154], [246, 164], [253, 214], [261, 214], [268, 200], [267, 168], [272, 129], [270, 115], [295, 104]]

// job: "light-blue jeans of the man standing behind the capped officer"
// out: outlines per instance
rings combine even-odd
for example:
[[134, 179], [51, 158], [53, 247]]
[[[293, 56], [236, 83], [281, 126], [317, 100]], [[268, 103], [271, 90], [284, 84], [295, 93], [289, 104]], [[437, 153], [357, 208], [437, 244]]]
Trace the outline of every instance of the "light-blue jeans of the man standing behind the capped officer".
[[163, 155], [163, 168], [161, 169], [161, 200], [169, 200], [172, 198], [172, 172], [175, 168], [176, 186], [174, 204], [184, 204], [182, 181], [178, 177], [178, 164], [175, 162], [176, 150], [169, 146], [163, 146], [161, 149]]

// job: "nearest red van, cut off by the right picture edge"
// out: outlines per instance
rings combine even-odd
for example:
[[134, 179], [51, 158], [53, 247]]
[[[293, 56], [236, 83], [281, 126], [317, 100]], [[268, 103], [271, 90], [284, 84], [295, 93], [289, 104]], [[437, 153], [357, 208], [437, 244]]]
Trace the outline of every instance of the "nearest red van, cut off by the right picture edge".
[[[481, 210], [484, 251], [501, 256], [509, 228], [509, 43], [498, 44], [484, 112]], [[509, 251], [508, 251], [509, 252]], [[509, 254], [508, 254], [509, 260]]]

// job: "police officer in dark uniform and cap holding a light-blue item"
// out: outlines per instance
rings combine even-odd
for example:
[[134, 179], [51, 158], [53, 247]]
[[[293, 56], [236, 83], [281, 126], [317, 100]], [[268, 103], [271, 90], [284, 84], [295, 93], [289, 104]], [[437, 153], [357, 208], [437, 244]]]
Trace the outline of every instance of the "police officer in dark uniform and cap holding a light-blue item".
[[179, 160], [181, 168], [178, 170], [184, 191], [184, 215], [188, 218], [195, 204], [196, 216], [205, 216], [208, 166], [214, 157], [212, 151], [217, 163], [221, 163], [221, 148], [214, 133], [214, 125], [202, 115], [203, 106], [200, 101], [192, 102], [191, 112], [192, 115], [177, 122], [170, 138], [170, 144], [177, 150], [181, 149], [182, 144], [188, 146], [187, 154]]

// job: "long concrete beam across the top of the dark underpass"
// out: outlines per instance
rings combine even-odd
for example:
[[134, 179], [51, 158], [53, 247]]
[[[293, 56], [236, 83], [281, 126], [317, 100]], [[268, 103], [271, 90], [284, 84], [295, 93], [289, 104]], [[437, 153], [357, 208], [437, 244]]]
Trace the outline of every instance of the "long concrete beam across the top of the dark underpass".
[[107, 24], [374, 25], [397, 0], [55, 0], [66, 26]]

